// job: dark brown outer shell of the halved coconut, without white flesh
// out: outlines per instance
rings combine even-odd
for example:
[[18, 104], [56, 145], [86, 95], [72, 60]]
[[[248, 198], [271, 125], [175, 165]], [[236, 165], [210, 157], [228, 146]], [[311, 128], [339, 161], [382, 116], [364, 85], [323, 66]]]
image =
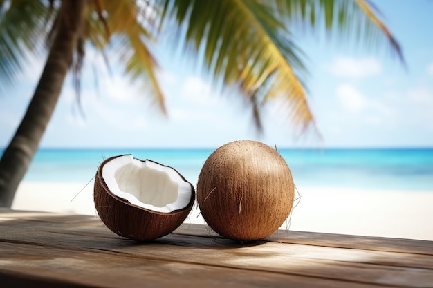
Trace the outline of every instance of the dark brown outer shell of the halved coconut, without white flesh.
[[[136, 206], [111, 193], [102, 177], [104, 165], [116, 157], [108, 158], [102, 162], [95, 177], [93, 198], [96, 211], [98, 211], [102, 222], [119, 236], [138, 241], [160, 238], [179, 227], [187, 218], [194, 204], [194, 186], [188, 182], [192, 189], [191, 200], [187, 207], [181, 210], [162, 213]], [[181, 177], [185, 180], [182, 175]]]

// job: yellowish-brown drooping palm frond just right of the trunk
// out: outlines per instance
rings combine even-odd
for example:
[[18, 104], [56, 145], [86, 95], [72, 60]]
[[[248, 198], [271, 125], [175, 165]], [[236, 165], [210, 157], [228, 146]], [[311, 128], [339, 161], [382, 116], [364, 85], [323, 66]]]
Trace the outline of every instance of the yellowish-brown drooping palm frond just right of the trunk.
[[147, 1], [98, 0], [95, 4], [89, 10], [86, 38], [102, 53], [118, 55], [131, 81], [142, 81], [160, 110], [166, 113], [165, 98], [156, 78], [158, 65], [149, 49], [156, 31], [156, 15], [149, 12]]

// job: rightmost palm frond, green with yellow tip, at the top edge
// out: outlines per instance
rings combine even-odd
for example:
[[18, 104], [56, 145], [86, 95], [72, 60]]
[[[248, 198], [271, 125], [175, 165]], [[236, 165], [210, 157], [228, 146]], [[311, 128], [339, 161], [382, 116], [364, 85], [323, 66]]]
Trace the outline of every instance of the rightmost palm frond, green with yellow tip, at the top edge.
[[277, 0], [278, 11], [287, 25], [308, 25], [338, 39], [380, 45], [384, 41], [405, 65], [400, 44], [380, 19], [382, 13], [369, 0]]

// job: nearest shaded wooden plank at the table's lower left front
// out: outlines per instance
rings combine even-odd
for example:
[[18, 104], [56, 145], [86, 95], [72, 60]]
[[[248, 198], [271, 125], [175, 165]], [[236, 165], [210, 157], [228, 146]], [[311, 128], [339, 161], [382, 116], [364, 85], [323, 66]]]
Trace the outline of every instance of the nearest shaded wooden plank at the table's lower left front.
[[1, 243], [1, 249], [0, 280], [5, 287], [378, 287], [99, 251], [10, 243]]

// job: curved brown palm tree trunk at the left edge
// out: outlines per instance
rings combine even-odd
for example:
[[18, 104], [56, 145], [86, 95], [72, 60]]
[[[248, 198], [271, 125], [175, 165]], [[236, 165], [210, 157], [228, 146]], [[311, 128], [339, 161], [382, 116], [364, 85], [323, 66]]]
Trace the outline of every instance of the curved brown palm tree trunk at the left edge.
[[86, 0], [63, 0], [58, 30], [33, 99], [0, 160], [0, 207], [11, 207], [59, 99], [82, 29]]

